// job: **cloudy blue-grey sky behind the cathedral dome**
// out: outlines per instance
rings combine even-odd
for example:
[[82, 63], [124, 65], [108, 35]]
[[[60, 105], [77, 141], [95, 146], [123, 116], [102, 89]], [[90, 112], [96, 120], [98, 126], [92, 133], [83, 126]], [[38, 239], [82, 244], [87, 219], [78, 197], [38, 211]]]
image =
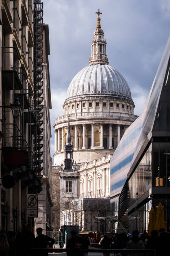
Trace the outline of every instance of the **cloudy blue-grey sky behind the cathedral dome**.
[[[170, 0], [44, 0], [50, 33], [51, 125], [72, 78], [88, 65], [100, 9], [109, 65], [127, 80], [140, 115], [170, 33]], [[54, 152], [52, 128], [51, 154]]]

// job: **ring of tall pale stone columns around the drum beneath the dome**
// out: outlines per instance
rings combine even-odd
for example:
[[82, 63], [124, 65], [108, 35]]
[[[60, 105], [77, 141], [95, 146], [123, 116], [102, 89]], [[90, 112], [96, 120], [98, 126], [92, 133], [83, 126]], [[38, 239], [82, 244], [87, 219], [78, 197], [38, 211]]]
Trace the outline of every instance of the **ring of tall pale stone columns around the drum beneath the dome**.
[[[78, 124], [79, 125], [79, 124]], [[108, 127], [108, 133], [109, 133], [109, 139], [108, 139], [108, 145], [107, 147], [105, 147], [105, 145], [103, 145], [103, 124], [100, 124], [98, 126], [99, 130], [100, 130], [100, 144], [98, 144], [97, 146], [95, 145], [95, 132], [94, 132], [94, 126], [95, 124], [91, 123], [91, 124], [81, 124], [79, 126], [82, 127], [82, 133], [81, 133], [81, 138], [82, 138], [82, 142], [77, 143], [77, 126], [78, 125], [73, 125], [74, 126], [74, 139], [72, 139], [72, 143], [74, 144], [74, 150], [77, 149], [86, 149], [86, 148], [90, 148], [90, 149], [103, 149], [103, 148], [109, 148], [112, 149], [112, 136], [113, 131], [112, 131], [112, 124], [107, 124]], [[87, 145], [87, 141], [86, 141], [86, 126], [87, 125], [91, 125], [91, 134], [89, 135], [89, 138], [91, 138], [91, 146], [89, 147], [89, 145]], [[117, 136], [117, 141], [116, 144], [118, 144], [120, 142], [120, 138], [121, 138], [121, 126], [125, 126], [125, 125], [120, 125], [120, 124], [114, 124], [117, 126], [116, 128], [116, 136]], [[70, 129], [72, 129], [72, 125], [70, 125]], [[124, 129], [125, 131], [125, 129]], [[123, 133], [124, 133], [123, 131]], [[61, 139], [62, 138], [62, 139]], [[62, 128], [58, 128], [55, 129], [55, 153], [56, 152], [60, 152], [64, 150], [64, 143], [65, 143], [65, 135], [64, 135], [64, 127]], [[79, 144], [79, 145], [78, 145]], [[81, 146], [80, 146], [81, 145]], [[116, 148], [117, 145], [114, 145], [114, 148]]]

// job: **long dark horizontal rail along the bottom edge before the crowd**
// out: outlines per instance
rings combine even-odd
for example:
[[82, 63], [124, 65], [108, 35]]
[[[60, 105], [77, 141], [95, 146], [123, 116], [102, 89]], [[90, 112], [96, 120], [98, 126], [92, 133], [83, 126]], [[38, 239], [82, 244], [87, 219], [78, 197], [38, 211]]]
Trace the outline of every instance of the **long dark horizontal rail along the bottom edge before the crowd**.
[[[147, 250], [147, 249], [45, 249], [45, 248], [28, 248], [27, 249], [27, 256], [41, 256], [42, 253], [45, 255], [45, 252], [48, 253], [59, 253], [59, 252], [69, 252], [70, 255], [82, 255], [83, 252], [88, 252], [88, 253], [114, 253], [115, 256], [129, 256], [130, 253], [135, 253], [136, 255], [141, 256], [142, 255], [147, 255], [147, 256], [156, 256], [156, 251], [155, 250]], [[133, 254], [134, 255], [134, 254]]]

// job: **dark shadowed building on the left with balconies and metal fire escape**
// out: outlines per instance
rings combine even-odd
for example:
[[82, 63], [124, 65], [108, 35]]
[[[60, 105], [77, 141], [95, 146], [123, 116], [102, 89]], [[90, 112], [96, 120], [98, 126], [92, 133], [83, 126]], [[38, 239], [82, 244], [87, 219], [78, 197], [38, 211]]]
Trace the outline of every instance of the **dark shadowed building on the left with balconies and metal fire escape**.
[[[27, 215], [27, 195], [42, 191], [43, 168], [45, 175], [50, 170], [42, 158], [47, 133], [42, 128], [46, 111], [42, 7], [36, 0], [0, 1], [0, 228], [4, 230], [21, 231], [24, 224], [31, 231], [35, 228], [36, 220]], [[50, 87], [48, 79], [45, 90]], [[46, 100], [48, 111], [50, 92]]]

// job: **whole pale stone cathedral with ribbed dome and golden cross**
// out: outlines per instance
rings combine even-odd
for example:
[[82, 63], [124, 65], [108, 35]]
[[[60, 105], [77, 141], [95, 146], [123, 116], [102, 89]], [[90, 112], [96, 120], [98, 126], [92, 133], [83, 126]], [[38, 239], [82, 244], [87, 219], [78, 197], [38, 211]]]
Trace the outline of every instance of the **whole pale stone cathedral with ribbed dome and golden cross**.
[[[56, 177], [60, 179], [60, 202], [68, 197], [69, 200], [110, 198], [110, 158], [125, 130], [137, 118], [133, 114], [135, 105], [128, 83], [108, 65], [107, 43], [100, 25], [100, 14], [98, 10], [89, 65], [72, 79], [63, 104], [64, 115], [55, 118], [53, 125], [55, 152], [52, 175], [54, 177], [55, 172], [58, 172]], [[73, 171], [70, 169], [70, 174], [69, 169], [67, 172], [63, 169], [66, 163], [62, 165], [66, 159], [68, 135], [76, 163]], [[56, 190], [53, 189], [54, 194], [56, 196]], [[62, 216], [61, 223], [66, 221], [72, 225], [74, 217], [66, 215]]]

